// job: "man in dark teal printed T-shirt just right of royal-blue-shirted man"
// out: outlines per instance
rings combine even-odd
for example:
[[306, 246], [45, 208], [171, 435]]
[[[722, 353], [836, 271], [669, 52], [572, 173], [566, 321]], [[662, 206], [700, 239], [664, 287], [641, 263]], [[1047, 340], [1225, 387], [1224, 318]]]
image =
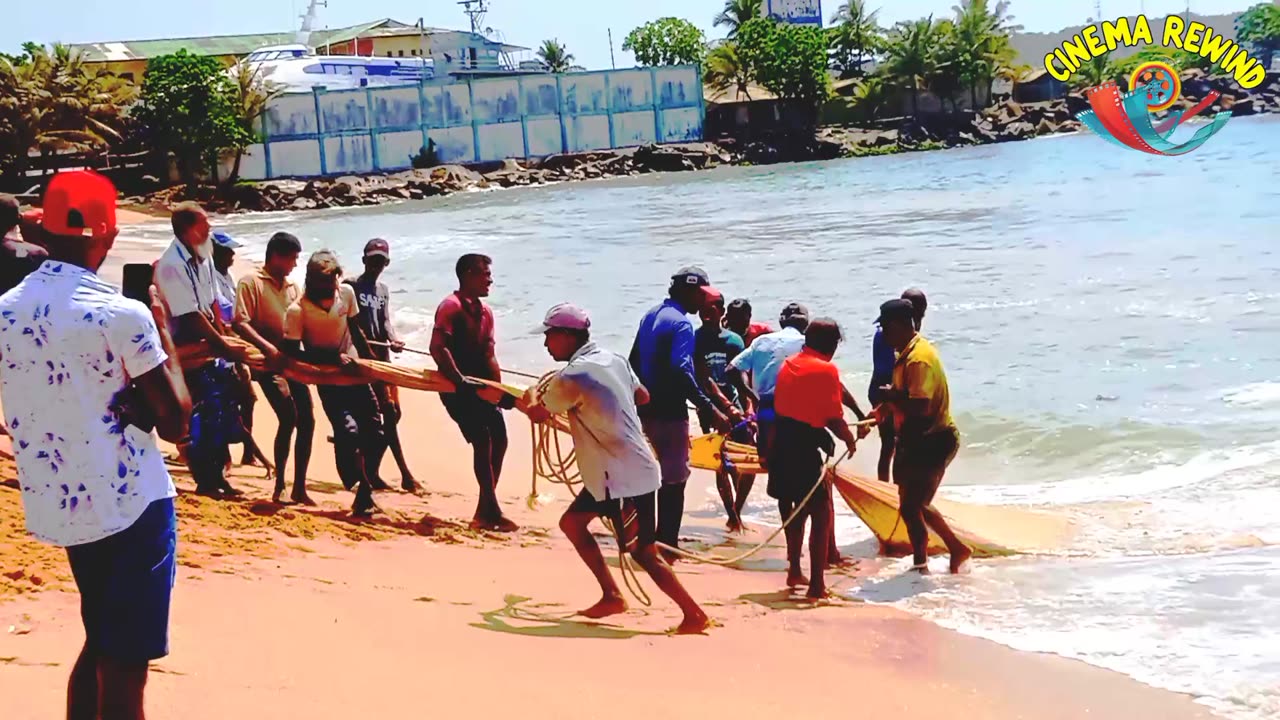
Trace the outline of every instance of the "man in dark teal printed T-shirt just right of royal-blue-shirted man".
[[[707, 304], [701, 311], [703, 324], [694, 337], [698, 380], [703, 384], [703, 392], [728, 416], [733, 427], [728, 439], [755, 445], [755, 437], [746, 420], [754, 413], [751, 400], [748, 395], [740, 393], [727, 377], [728, 364], [745, 350], [742, 338], [736, 332], [721, 327], [721, 320], [724, 318], [724, 296], [712, 287], [703, 290], [707, 295]], [[713, 430], [710, 416], [699, 413], [698, 419], [704, 434]], [[740, 475], [732, 468], [716, 473], [716, 489], [724, 502], [731, 533], [742, 532], [742, 507], [746, 506], [754, 483], [755, 475]]]

